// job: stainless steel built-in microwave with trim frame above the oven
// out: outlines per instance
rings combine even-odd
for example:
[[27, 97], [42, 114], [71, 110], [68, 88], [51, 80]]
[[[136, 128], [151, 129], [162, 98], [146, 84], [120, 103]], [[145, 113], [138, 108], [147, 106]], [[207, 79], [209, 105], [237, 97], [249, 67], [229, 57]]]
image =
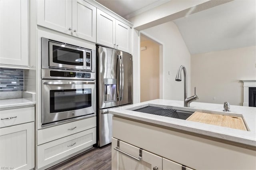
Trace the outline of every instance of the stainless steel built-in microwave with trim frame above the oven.
[[75, 69], [95, 72], [95, 50], [43, 37], [41, 41], [42, 69]]

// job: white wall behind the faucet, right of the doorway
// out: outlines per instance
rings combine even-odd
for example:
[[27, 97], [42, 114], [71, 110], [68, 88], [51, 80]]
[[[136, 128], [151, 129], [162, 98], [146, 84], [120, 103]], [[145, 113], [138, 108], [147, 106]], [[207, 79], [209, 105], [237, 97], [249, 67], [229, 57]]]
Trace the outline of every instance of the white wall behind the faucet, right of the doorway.
[[[190, 96], [190, 53], [174, 22], [167, 22], [148, 28], [143, 30], [143, 34], [157, 42], [162, 42], [163, 45], [163, 99], [184, 99], [184, 81], [175, 81], [180, 65], [184, 65], [188, 73], [188, 96]], [[170, 75], [168, 74], [169, 72]]]

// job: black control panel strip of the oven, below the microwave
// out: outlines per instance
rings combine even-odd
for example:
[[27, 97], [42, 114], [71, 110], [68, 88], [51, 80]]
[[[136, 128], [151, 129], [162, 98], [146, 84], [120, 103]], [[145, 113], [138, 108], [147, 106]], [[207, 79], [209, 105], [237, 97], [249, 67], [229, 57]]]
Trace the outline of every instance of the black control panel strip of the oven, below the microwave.
[[50, 71], [51, 77], [76, 77], [91, 78], [91, 73], [75, 72], [75, 71]]

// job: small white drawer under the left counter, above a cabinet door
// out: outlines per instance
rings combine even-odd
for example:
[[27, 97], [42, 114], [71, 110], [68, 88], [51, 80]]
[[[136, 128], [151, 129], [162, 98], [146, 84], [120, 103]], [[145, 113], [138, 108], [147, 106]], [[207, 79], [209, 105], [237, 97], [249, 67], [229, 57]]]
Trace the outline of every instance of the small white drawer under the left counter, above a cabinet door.
[[35, 120], [35, 107], [2, 110], [0, 113], [0, 128]]

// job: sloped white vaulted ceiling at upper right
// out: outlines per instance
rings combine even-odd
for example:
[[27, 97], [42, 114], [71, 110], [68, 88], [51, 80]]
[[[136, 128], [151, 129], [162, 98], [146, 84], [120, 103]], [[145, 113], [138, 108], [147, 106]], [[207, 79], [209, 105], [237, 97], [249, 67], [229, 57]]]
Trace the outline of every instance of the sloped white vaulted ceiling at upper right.
[[256, 45], [255, 0], [234, 0], [174, 22], [191, 54]]

